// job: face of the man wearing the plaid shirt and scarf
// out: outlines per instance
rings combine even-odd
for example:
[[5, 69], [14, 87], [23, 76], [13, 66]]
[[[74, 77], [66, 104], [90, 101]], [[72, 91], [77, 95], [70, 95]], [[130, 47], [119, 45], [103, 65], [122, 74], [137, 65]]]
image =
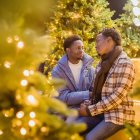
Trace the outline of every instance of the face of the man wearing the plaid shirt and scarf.
[[108, 37], [99, 34], [96, 38], [96, 51], [99, 55], [106, 54], [108, 52], [109, 40]]

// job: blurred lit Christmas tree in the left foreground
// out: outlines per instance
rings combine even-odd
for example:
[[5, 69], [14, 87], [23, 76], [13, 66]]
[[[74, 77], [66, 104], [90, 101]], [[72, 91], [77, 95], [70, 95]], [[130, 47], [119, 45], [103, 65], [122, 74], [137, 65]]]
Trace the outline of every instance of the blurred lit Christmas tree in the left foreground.
[[77, 112], [53, 97], [63, 82], [37, 71], [50, 50], [41, 25], [51, 3], [0, 1], [0, 140], [82, 139], [78, 133], [85, 125], [66, 124], [60, 117]]

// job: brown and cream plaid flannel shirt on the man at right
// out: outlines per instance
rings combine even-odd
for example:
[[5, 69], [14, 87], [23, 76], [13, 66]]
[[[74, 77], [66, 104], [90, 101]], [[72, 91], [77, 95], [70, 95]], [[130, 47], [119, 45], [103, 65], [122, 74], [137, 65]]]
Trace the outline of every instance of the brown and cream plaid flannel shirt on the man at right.
[[[96, 73], [100, 70], [100, 63]], [[133, 100], [128, 96], [134, 81], [134, 67], [126, 53], [122, 52], [113, 63], [102, 88], [102, 100], [88, 106], [92, 116], [104, 113], [105, 122], [123, 125], [134, 123]]]

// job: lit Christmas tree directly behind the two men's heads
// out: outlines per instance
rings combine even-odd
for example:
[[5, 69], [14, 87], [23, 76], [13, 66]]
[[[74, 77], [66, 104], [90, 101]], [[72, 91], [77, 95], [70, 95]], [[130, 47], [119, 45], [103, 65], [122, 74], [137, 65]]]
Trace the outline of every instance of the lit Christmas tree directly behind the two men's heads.
[[[46, 32], [54, 37], [51, 56], [46, 57], [44, 65], [50, 69], [64, 54], [63, 41], [72, 34], [78, 34], [84, 42], [84, 49], [96, 58], [96, 35], [105, 27], [113, 27], [113, 12], [107, 8], [106, 0], [59, 0], [52, 9], [52, 15], [46, 20]], [[43, 66], [43, 64], [42, 64]], [[45, 71], [49, 71], [45, 69]], [[45, 72], [44, 71], [44, 72]], [[47, 73], [47, 72], [46, 72]]]

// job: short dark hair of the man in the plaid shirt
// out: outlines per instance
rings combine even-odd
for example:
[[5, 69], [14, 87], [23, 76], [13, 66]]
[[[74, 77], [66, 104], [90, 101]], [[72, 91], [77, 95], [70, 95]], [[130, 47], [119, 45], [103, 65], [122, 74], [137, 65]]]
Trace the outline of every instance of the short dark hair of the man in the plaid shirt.
[[115, 28], [105, 28], [101, 31], [105, 37], [111, 37], [116, 45], [121, 45], [121, 36]]

